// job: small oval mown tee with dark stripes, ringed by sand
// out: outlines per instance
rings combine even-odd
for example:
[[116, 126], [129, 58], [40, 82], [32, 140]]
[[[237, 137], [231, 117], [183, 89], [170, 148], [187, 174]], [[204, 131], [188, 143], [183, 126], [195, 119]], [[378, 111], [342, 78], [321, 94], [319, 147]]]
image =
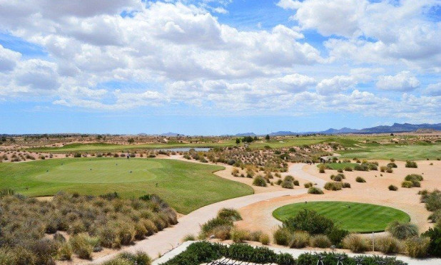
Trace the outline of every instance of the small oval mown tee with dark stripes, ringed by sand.
[[398, 209], [358, 202], [308, 202], [307, 204], [300, 202], [275, 209], [273, 216], [283, 221], [295, 217], [303, 209], [323, 214], [350, 232], [382, 232], [390, 222], [410, 221], [409, 215]]

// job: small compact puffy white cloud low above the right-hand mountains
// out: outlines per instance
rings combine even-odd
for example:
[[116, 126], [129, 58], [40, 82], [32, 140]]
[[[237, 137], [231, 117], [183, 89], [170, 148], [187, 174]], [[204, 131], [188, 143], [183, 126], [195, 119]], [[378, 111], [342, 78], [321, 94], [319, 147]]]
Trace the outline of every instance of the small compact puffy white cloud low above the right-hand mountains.
[[410, 91], [420, 86], [420, 81], [409, 71], [402, 71], [395, 76], [380, 76], [377, 88], [382, 90]]

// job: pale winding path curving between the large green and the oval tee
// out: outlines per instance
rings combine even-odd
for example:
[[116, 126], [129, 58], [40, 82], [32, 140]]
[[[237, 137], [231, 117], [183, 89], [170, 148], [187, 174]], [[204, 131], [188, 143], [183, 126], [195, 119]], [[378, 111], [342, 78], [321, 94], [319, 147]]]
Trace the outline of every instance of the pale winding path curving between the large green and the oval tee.
[[[290, 166], [290, 174], [301, 179], [305, 179], [311, 182], [315, 182], [318, 186], [323, 186], [324, 181], [318, 177], [303, 172], [302, 167], [305, 164], [293, 164]], [[323, 183], [322, 183], [323, 182]], [[222, 208], [241, 208], [255, 202], [261, 202], [268, 199], [273, 199], [282, 196], [291, 196], [305, 194], [308, 189], [286, 189], [277, 192], [266, 192], [252, 194], [248, 196], [238, 197], [234, 199], [228, 199], [223, 202], [216, 202], [214, 204], [207, 205], [205, 207], [199, 208], [196, 211], [187, 214], [179, 219], [179, 223], [174, 227], [164, 229], [162, 232], [154, 234], [148, 239], [142, 241], [137, 241], [135, 245], [129, 246], [124, 251], [136, 252], [145, 251], [148, 255], [155, 257], [158, 254], [164, 254], [171, 249], [176, 248], [181, 244], [181, 239], [187, 234], [198, 234], [201, 224], [207, 222], [209, 219], [216, 217], [218, 211]], [[119, 252], [119, 251], [118, 251]], [[107, 256], [102, 256], [94, 260], [93, 264], [100, 264], [104, 261], [112, 259], [118, 252], [109, 254]], [[90, 262], [84, 264], [91, 264]]]

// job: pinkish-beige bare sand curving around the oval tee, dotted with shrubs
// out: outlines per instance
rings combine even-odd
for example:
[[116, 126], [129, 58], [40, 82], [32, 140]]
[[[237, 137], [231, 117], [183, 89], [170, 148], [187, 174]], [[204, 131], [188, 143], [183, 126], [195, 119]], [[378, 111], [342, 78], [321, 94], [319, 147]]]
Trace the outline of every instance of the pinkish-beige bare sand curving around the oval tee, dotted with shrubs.
[[[377, 160], [377, 162], [382, 166], [387, 165], [389, 161]], [[305, 201], [348, 201], [380, 204], [401, 209], [410, 215], [411, 222], [417, 224], [420, 232], [424, 232], [432, 226], [427, 221], [430, 212], [425, 209], [424, 204], [420, 203], [420, 195], [417, 192], [422, 189], [441, 189], [441, 177], [439, 175], [441, 161], [418, 161], [418, 168], [416, 169], [406, 168], [405, 162], [397, 161], [395, 163], [398, 167], [394, 169], [393, 173], [382, 173], [380, 171], [344, 172], [346, 176], [345, 182], [349, 182], [352, 187], [350, 189], [342, 189], [336, 192], [324, 190], [325, 194], [323, 195], [300, 194], [250, 204], [240, 208], [243, 221], [237, 222], [237, 225], [238, 227], [250, 230], [273, 231], [280, 222], [272, 216], [272, 213], [275, 209], [285, 204]], [[430, 165], [430, 163], [433, 163], [433, 165]], [[303, 170], [325, 181], [330, 181], [330, 175], [337, 173], [336, 170], [326, 170], [325, 174], [320, 174], [316, 165], [305, 165]], [[424, 180], [421, 182], [422, 187], [402, 188], [401, 182], [404, 180], [404, 177], [412, 173], [420, 174], [424, 177]], [[382, 174], [382, 177], [380, 174]], [[365, 178], [366, 182], [355, 182], [355, 177], [358, 176]], [[399, 187], [396, 192], [391, 192], [387, 189], [391, 184]]]

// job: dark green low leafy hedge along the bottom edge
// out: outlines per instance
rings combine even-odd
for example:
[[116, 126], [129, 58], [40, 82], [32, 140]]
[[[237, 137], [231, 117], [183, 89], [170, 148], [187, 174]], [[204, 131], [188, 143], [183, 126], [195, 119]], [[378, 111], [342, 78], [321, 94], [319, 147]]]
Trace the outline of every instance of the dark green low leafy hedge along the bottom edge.
[[253, 262], [258, 264], [278, 264], [278, 265], [315, 265], [319, 255], [323, 256], [325, 265], [336, 264], [338, 258], [343, 264], [356, 264], [355, 259], [363, 260], [362, 265], [376, 265], [379, 261], [384, 261], [385, 265], [405, 265], [406, 263], [395, 258], [382, 258], [380, 256], [358, 256], [349, 257], [346, 254], [320, 253], [320, 254], [301, 254], [298, 259], [294, 259], [290, 254], [276, 254], [274, 251], [265, 247], [248, 246], [246, 244], [212, 244], [209, 242], [197, 242], [188, 246], [178, 256], [162, 265], [199, 265], [226, 257], [237, 261]]

